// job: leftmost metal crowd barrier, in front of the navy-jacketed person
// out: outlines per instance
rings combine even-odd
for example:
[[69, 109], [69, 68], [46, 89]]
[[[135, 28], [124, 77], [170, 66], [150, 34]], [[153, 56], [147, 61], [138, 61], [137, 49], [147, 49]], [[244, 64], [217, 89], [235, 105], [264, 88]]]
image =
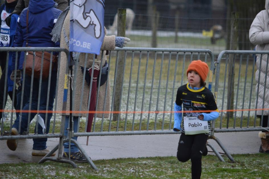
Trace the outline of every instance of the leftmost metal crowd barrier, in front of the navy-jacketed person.
[[[71, 165], [73, 165], [74, 167], [77, 167], [77, 165], [71, 161], [71, 160], [66, 160], [66, 159], [62, 159], [61, 155], [62, 155], [62, 148], [63, 148], [63, 143], [68, 141], [67, 139], [63, 139], [64, 138], [64, 122], [65, 122], [65, 113], [66, 113], [66, 103], [67, 101], [63, 101], [63, 107], [60, 111], [55, 111], [55, 109], [57, 108], [57, 99], [58, 99], [58, 88], [64, 88], [63, 86], [59, 86], [58, 82], [59, 82], [59, 73], [57, 73], [57, 71], [59, 72], [59, 67], [60, 64], [63, 63], [63, 61], [61, 60], [61, 52], [64, 53], [63, 56], [66, 57], [66, 68], [65, 68], [65, 74], [67, 74], [67, 76], [69, 75], [69, 51], [65, 48], [50, 48], [50, 47], [18, 47], [18, 48], [14, 48], [14, 47], [1, 47], [0, 51], [5, 51], [8, 52], [7, 53], [7, 61], [6, 61], [6, 66], [5, 66], [5, 84], [1, 84], [4, 85], [4, 90], [7, 90], [7, 75], [8, 75], [8, 65], [9, 65], [9, 57], [10, 52], [14, 52], [13, 53], [13, 60], [15, 60], [15, 74], [14, 74], [14, 82], [13, 82], [13, 97], [12, 97], [12, 102], [10, 100], [7, 101], [8, 106], [5, 106], [5, 98], [6, 96], [3, 96], [3, 109], [1, 109], [2, 112], [2, 120], [1, 120], [1, 135], [0, 135], [0, 140], [8, 140], [8, 139], [37, 139], [37, 138], [59, 138], [59, 145], [58, 147], [54, 148], [51, 150], [51, 152], [49, 152], [42, 160], [40, 160], [39, 163], [45, 162], [46, 160], [52, 160], [52, 161], [57, 161], [57, 162], [66, 162], [69, 163]], [[35, 64], [37, 64], [37, 59], [38, 57], [36, 56], [36, 52], [42, 52], [41, 54], [41, 62], [40, 62], [40, 76], [39, 77], [35, 77], [34, 78], [34, 66]], [[23, 63], [22, 65], [22, 69], [20, 69], [21, 73], [22, 73], [22, 83], [20, 85], [20, 89], [19, 89], [19, 85], [16, 85], [16, 77], [17, 77], [17, 70], [19, 70], [19, 54], [21, 54], [21, 52], [24, 52], [24, 56], [23, 56], [23, 61], [26, 61], [26, 55], [29, 55], [30, 52], [33, 52], [33, 64], [32, 64], [32, 73], [31, 76], [28, 74], [26, 74], [26, 63]], [[29, 52], [29, 54], [28, 54]], [[44, 61], [46, 60], [44, 58], [44, 52], [49, 52], [50, 53], [50, 65], [49, 65], [49, 74], [48, 77], [43, 79], [42, 78], [42, 73], [43, 73], [43, 64]], [[52, 63], [52, 58], [53, 58], [53, 52], [59, 52], [59, 56], [58, 56], [58, 61], [57, 64], [53, 64]], [[26, 81], [26, 79], [28, 81]], [[30, 82], [29, 82], [30, 80]], [[54, 80], [52, 82], [52, 80]], [[67, 79], [68, 80], [68, 79]], [[42, 82], [44, 81], [48, 81], [47, 84], [42, 84]], [[27, 88], [25, 88], [25, 86], [27, 86]], [[53, 85], [51, 87], [51, 85]], [[43, 89], [43, 87], [46, 87]], [[16, 105], [14, 105], [14, 99], [15, 99], [15, 91], [16, 88], [18, 87], [18, 92], [20, 91], [20, 96], [21, 98], [18, 99], [18, 103], [20, 105], [17, 104], [17, 109], [16, 112], [17, 114], [15, 114], [15, 107]], [[29, 90], [25, 91], [26, 89], [30, 88]], [[38, 94], [36, 93], [38, 89]], [[43, 90], [43, 92], [46, 92], [47, 95], [44, 96], [44, 93], [42, 93], [41, 91]], [[45, 90], [45, 91], [44, 91]], [[53, 92], [52, 90], [55, 90], [55, 92]], [[43, 96], [42, 96], [43, 95]], [[19, 97], [19, 95], [17, 96]], [[36, 97], [38, 98], [36, 100]], [[43, 100], [46, 100], [46, 109], [41, 109], [40, 105], [42, 105], [41, 102], [41, 97], [43, 97]], [[54, 104], [53, 104], [53, 109], [49, 109], [51, 108], [51, 104], [49, 104], [49, 99], [54, 98]], [[28, 102], [29, 101], [29, 102]], [[29, 109], [25, 110], [23, 107], [29, 105]], [[43, 103], [44, 105], [44, 103]], [[34, 109], [31, 109], [31, 108]], [[42, 107], [44, 108], [44, 106]], [[5, 113], [7, 113], [8, 115], [5, 116]], [[28, 121], [27, 121], [27, 127], [26, 129], [24, 129], [25, 131], [20, 131], [21, 130], [21, 125], [22, 125], [22, 115], [28, 113]], [[60, 113], [60, 115], [58, 115], [57, 113]], [[43, 118], [41, 117], [41, 115], [43, 115]], [[52, 122], [50, 122], [50, 119], [48, 117], [49, 114], [52, 114], [51, 119], [53, 119]], [[17, 117], [15, 117], [15, 115], [17, 115]], [[30, 121], [31, 121], [31, 116], [30, 115], [34, 115], [35, 119], [32, 119], [32, 121], [35, 121], [35, 127], [34, 129], [30, 128], [31, 126], [33, 126], [33, 124], [31, 125]], [[61, 116], [61, 117], [59, 117]], [[40, 118], [41, 117], [41, 118]], [[4, 118], [8, 118], [9, 121], [7, 121], [10, 125], [7, 126], [7, 123], [5, 123], [4, 125]], [[14, 119], [15, 118], [15, 119]], [[19, 129], [18, 129], [18, 133], [19, 135], [10, 135], [11, 134], [11, 129], [12, 129], [12, 125], [14, 124], [15, 120], [19, 120]], [[41, 119], [41, 120], [39, 120]], [[44, 120], [42, 120], [44, 119]], [[43, 121], [43, 122], [41, 122]], [[49, 123], [50, 122], [50, 123]], [[42, 124], [43, 123], [43, 124]], [[49, 123], [49, 124], [48, 124]], [[56, 129], [56, 123], [57, 126], [60, 126], [60, 129]], [[41, 126], [43, 125], [43, 129], [42, 129], [42, 133], [43, 134], [38, 134], [38, 124], [40, 124]], [[46, 134], [46, 129], [48, 128], [48, 125], [50, 126], [50, 131], [48, 132], [48, 134]], [[52, 126], [51, 126], [52, 125]], [[7, 129], [7, 130], [6, 130]], [[72, 140], [72, 139], [71, 139]], [[52, 158], [50, 157], [54, 152], [56, 152], [56, 150], [59, 148], [58, 150], [58, 157], [57, 158]], [[83, 152], [84, 150], [79, 147], [79, 149]], [[84, 152], [85, 153], [85, 152]], [[70, 155], [69, 155], [70, 156]], [[70, 159], [70, 158], [69, 158]], [[89, 161], [89, 163], [92, 165], [93, 168], [96, 169], [96, 167], [94, 166], [93, 162], [89, 159], [89, 157], [87, 158]]]

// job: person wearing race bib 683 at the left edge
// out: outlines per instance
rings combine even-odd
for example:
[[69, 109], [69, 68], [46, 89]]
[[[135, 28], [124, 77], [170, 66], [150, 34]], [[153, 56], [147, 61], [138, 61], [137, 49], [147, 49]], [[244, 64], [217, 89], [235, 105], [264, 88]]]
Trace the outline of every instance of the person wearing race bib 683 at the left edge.
[[[5, 19], [14, 11], [16, 5], [18, 3], [18, 0], [5, 0], [5, 3], [1, 5], [0, 7], [0, 14], [1, 14], [1, 32], [0, 32], [0, 46], [1, 47], [9, 47], [12, 46], [12, 42], [14, 39], [14, 36], [11, 37], [10, 31], [12, 30], [7, 26]], [[15, 28], [14, 28], [14, 21], [13, 23], [13, 29], [16, 30], [16, 20], [15, 20]], [[11, 55], [11, 52], [9, 52], [9, 57]], [[5, 78], [6, 78], [6, 63], [7, 63], [7, 52], [2, 51], [0, 52], [0, 66], [2, 70], [2, 75], [0, 78], [0, 109], [3, 109], [4, 105], [7, 103], [7, 95], [11, 99], [13, 99], [13, 81], [9, 78], [11, 75], [11, 58], [9, 58], [8, 62], [8, 69], [7, 69], [7, 88], [5, 88]], [[14, 107], [17, 105], [17, 89], [15, 89], [15, 97], [13, 101]], [[3, 98], [5, 96], [5, 101], [3, 101]], [[0, 112], [0, 119], [2, 118], [2, 112]]]

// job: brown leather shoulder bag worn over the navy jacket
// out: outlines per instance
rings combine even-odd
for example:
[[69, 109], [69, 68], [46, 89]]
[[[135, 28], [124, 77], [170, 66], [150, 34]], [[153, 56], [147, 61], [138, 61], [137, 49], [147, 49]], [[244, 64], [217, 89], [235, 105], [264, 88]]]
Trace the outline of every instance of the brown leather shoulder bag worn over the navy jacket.
[[[28, 47], [28, 14], [29, 10], [27, 11], [26, 15], [26, 31], [27, 31], [27, 37], [26, 37], [26, 47]], [[25, 73], [28, 76], [32, 76], [32, 70], [34, 70], [34, 78], [40, 78], [40, 72], [41, 72], [41, 62], [42, 62], [42, 52], [26, 52], [26, 60], [25, 63]], [[34, 59], [33, 59], [34, 58]], [[57, 63], [57, 56], [52, 56], [52, 68]], [[33, 66], [34, 62], [34, 66]], [[33, 69], [34, 68], [34, 69]], [[47, 79], [50, 72], [50, 52], [44, 52], [44, 58], [43, 58], [43, 68], [42, 68], [42, 79]]]

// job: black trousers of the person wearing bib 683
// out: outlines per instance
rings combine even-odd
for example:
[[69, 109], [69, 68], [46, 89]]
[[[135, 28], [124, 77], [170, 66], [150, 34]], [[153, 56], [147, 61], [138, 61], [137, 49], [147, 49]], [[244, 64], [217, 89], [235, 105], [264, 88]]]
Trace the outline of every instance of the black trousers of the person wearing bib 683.
[[[6, 62], [7, 62], [7, 52], [0, 52], [0, 66], [2, 70], [2, 75], [0, 78], [0, 109], [3, 109], [4, 104], [7, 103], [7, 95], [12, 99], [13, 97], [13, 91], [7, 92], [7, 88], [5, 90], [5, 78], [6, 78]], [[5, 96], [5, 101], [3, 101]], [[16, 109], [17, 105], [17, 89], [15, 90], [15, 98], [13, 101], [13, 105]], [[0, 119], [2, 118], [2, 112], [0, 112]]]

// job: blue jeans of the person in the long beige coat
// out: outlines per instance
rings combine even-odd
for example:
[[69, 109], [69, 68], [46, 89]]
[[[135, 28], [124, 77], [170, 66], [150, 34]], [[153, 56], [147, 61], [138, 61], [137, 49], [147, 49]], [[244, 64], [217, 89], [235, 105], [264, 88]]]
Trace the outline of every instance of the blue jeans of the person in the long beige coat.
[[[74, 121], [74, 125], [73, 125], [73, 130], [74, 132], [77, 132], [77, 123], [78, 123], [79, 117], [73, 116], [73, 121]], [[65, 139], [67, 138], [68, 135], [68, 128], [69, 126], [69, 116], [65, 117], [65, 123], [64, 123], [64, 136]], [[77, 136], [76, 137], [72, 137], [72, 139], [77, 140]], [[69, 152], [69, 142], [63, 143], [63, 151], [64, 152]], [[78, 152], [79, 149], [77, 148], [77, 146], [73, 143], [70, 144], [70, 152]]]

